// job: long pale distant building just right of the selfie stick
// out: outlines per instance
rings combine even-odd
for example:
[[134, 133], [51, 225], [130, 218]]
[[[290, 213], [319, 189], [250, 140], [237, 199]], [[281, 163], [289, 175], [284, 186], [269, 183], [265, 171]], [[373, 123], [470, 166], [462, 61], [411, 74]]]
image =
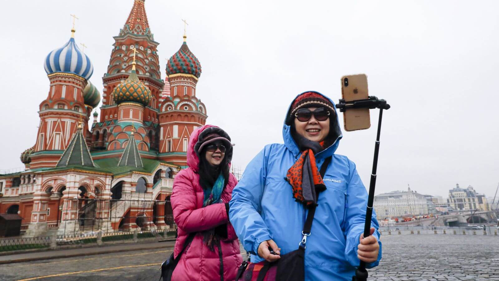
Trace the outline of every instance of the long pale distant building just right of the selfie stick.
[[435, 210], [435, 204], [428, 201], [427, 195], [412, 191], [392, 191], [374, 196], [374, 210], [378, 219], [422, 215]]

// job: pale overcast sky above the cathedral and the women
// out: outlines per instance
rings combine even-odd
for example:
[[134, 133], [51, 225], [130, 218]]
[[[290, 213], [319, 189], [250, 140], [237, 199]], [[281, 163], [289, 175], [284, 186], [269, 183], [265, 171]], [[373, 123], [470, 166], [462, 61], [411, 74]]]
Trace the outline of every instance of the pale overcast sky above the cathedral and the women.
[[[102, 92], [113, 36], [133, 0], [8, 1], [2, 28], [0, 169], [22, 166], [36, 140], [49, 81], [43, 59], [70, 37], [94, 65]], [[165, 58], [187, 42], [201, 62], [197, 96], [208, 123], [236, 143], [244, 168], [267, 143], [282, 142], [289, 102], [305, 90], [341, 96], [340, 77], [367, 73], [385, 98], [377, 192], [448, 196], [456, 183], [494, 196], [499, 182], [498, 1], [146, 0], [162, 77]], [[337, 153], [369, 185], [378, 112], [371, 129], [343, 132]], [[342, 120], [340, 120], [342, 122]]]

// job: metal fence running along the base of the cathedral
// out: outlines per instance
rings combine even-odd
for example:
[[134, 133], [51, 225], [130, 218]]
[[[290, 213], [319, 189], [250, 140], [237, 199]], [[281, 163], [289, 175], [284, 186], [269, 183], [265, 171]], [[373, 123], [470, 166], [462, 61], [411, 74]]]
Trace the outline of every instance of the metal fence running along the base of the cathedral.
[[57, 221], [51, 222], [47, 235], [1, 238], [0, 252], [177, 237], [169, 200], [152, 200], [140, 193], [120, 196], [61, 200]]

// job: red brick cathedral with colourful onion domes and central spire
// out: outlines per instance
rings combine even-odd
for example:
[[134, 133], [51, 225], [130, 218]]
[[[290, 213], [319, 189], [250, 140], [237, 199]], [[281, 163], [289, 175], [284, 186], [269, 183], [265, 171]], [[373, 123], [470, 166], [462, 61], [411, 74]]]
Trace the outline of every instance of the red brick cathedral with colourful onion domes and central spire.
[[22, 217], [25, 235], [168, 227], [173, 177], [186, 167], [190, 134], [208, 116], [196, 90], [201, 65], [185, 34], [161, 78], [144, 1], [133, 1], [113, 37], [102, 95], [88, 80], [92, 62], [74, 26], [47, 54], [48, 91], [34, 145], [20, 156], [25, 170], [0, 174], [0, 213]]

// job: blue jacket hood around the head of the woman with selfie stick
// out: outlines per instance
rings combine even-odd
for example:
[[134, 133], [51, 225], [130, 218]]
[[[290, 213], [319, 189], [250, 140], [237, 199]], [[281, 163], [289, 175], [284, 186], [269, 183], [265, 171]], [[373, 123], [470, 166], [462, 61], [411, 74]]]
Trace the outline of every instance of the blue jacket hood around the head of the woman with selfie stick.
[[330, 117], [330, 125], [329, 125], [329, 135], [327, 136], [328, 138], [333, 138], [333, 143], [326, 147], [324, 150], [320, 151], [315, 155], [316, 158], [326, 158], [328, 156], [331, 156], [334, 154], [336, 151], [336, 148], [338, 148], [338, 144], [340, 139], [343, 137], [341, 134], [341, 128], [339, 126], [339, 121], [338, 121], [338, 111], [336, 109], [336, 104], [333, 102], [333, 100], [325, 95], [323, 95], [320, 92], [317, 91], [304, 91], [298, 95], [296, 95], [293, 100], [289, 103], [289, 106], [286, 110], [286, 115], [284, 116], [284, 124], [282, 127], [282, 138], [284, 139], [284, 145], [293, 152], [294, 155], [298, 155], [300, 153], [300, 149], [298, 148], [298, 145], [294, 141], [293, 136], [291, 135], [291, 126], [286, 125], [286, 118], [289, 116], [289, 111], [291, 110], [291, 105], [293, 104], [294, 100], [301, 94], [306, 93], [306, 92], [315, 92], [318, 93], [325, 98], [327, 98], [334, 106], [334, 117]]

